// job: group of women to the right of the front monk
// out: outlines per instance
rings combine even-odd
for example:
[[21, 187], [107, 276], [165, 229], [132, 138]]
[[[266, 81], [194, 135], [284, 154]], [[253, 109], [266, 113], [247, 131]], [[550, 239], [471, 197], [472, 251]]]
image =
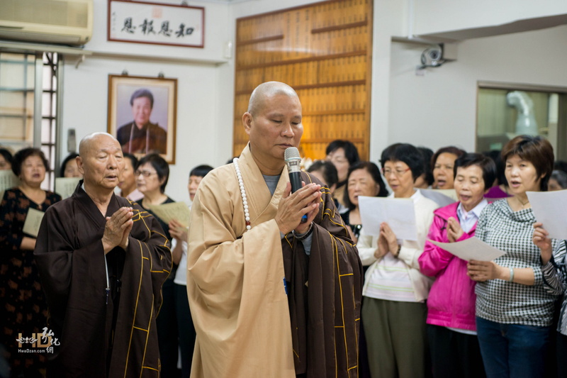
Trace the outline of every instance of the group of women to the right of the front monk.
[[[566, 189], [563, 163], [554, 162], [547, 140], [529, 135], [518, 135], [498, 153], [449, 146], [425, 161], [424, 150], [397, 143], [380, 160], [390, 197], [414, 202], [417, 240], [399, 240], [387, 222], [379, 235], [366, 235], [352, 221], [353, 196], [342, 198], [349, 204], [344, 222], [368, 267], [361, 369], [368, 362], [367, 376], [374, 378], [566, 377], [561, 322], [566, 305], [560, 306], [566, 245], [549, 239], [526, 194]], [[356, 185], [354, 196], [383, 196], [373, 165], [354, 162], [334, 185], [344, 186], [345, 193]], [[356, 173], [361, 167], [367, 169], [364, 179]], [[369, 189], [358, 189], [361, 183]], [[420, 187], [454, 190], [458, 201], [440, 207]], [[473, 236], [505, 255], [467, 262], [430, 241], [456, 243]]]

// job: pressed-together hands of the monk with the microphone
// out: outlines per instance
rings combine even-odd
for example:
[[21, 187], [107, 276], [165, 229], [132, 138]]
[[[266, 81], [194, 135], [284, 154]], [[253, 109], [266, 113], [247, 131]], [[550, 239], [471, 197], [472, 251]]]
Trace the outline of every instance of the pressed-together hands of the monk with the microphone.
[[[303, 188], [291, 193], [291, 184], [286, 184], [286, 190], [279, 201], [276, 213], [276, 223], [281, 233], [287, 234], [292, 230], [296, 233], [306, 233], [317, 215], [321, 200], [321, 186], [303, 182]], [[301, 217], [307, 214], [307, 221], [301, 223]]]

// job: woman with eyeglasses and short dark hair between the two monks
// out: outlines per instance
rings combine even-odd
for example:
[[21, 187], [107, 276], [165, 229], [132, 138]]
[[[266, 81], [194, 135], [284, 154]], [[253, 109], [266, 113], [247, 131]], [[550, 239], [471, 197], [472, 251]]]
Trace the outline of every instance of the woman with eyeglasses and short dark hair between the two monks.
[[[152, 206], [175, 202], [164, 194], [167, 179], [169, 179], [169, 165], [159, 154], [145, 155], [137, 163], [135, 177], [137, 189], [144, 194], [144, 198], [137, 201], [137, 203], [159, 221], [159, 225], [164, 229], [167, 238], [172, 240], [168, 223], [162, 221], [152, 212]], [[173, 249], [174, 245], [172, 245]], [[179, 262], [179, 259], [177, 261]], [[156, 319], [157, 341], [159, 343], [159, 357], [162, 362], [163, 377], [176, 377], [179, 374], [177, 369], [179, 333], [177, 332], [174, 287], [176, 267], [177, 265], [174, 264], [172, 272], [169, 273], [169, 277], [162, 286], [162, 308], [159, 309]]]

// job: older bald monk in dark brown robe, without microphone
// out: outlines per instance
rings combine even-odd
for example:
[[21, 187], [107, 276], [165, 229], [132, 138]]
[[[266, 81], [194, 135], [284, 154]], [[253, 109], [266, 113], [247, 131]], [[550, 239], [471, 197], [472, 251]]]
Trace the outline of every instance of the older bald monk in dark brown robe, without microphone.
[[114, 195], [124, 159], [112, 135], [81, 140], [77, 165], [84, 179], [45, 213], [34, 251], [60, 344], [47, 377], [158, 377], [169, 241], [153, 216]]

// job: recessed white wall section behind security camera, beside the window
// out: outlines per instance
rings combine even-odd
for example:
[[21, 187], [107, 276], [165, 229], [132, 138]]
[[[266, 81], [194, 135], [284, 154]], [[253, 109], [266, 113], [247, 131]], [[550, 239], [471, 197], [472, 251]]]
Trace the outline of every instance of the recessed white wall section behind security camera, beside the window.
[[388, 143], [475, 148], [478, 81], [567, 87], [567, 26], [466, 40], [456, 62], [415, 75], [424, 45], [393, 43]]

